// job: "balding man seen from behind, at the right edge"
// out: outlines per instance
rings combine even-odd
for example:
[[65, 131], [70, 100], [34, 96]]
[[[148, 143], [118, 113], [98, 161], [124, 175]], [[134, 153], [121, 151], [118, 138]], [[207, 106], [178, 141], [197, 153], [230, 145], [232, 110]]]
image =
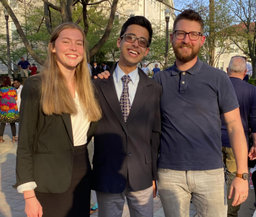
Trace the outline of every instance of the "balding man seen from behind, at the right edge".
[[[248, 146], [248, 137], [249, 137], [249, 128], [251, 128], [252, 137], [253, 137], [253, 146], [249, 152], [250, 160], [256, 158], [256, 87], [250, 83], [242, 81], [246, 76], [246, 58], [242, 56], [232, 57], [227, 68], [227, 74], [230, 78], [232, 85], [234, 86], [237, 100], [239, 103], [239, 110], [243, 125], [243, 130], [245, 131], [245, 136], [247, 139]], [[232, 180], [236, 177], [237, 167], [234, 153], [232, 152], [227, 128], [222, 117], [222, 152], [223, 152], [223, 161], [227, 169], [231, 172], [230, 178], [228, 180], [228, 194], [230, 190], [230, 185]], [[238, 216], [237, 211], [240, 208], [240, 205], [233, 207], [231, 206], [233, 198], [228, 199], [228, 215], [229, 217]]]

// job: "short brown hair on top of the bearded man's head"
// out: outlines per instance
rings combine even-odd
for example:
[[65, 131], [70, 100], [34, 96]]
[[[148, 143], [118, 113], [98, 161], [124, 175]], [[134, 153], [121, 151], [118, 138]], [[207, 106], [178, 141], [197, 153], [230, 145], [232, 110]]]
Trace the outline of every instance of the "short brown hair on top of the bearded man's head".
[[180, 20], [190, 20], [199, 22], [201, 26], [201, 33], [204, 32], [204, 21], [202, 17], [199, 15], [199, 13], [197, 13], [196, 11], [191, 9], [183, 10], [173, 22], [173, 31], [176, 30], [177, 22]]

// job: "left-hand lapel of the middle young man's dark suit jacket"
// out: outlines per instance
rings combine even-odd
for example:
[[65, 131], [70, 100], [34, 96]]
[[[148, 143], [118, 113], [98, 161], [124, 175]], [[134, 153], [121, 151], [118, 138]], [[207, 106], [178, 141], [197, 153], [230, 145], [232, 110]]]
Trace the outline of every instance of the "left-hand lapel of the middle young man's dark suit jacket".
[[107, 100], [110, 108], [114, 112], [115, 116], [117, 116], [120, 124], [124, 129], [126, 129], [126, 124], [124, 122], [119, 99], [117, 96], [117, 91], [115, 90], [114, 86], [113, 72], [115, 70], [115, 67], [117, 67], [117, 63], [112, 67], [110, 77], [108, 79], [101, 80], [102, 84], [100, 85], [100, 89], [102, 91], [102, 94], [104, 95], [104, 98]]

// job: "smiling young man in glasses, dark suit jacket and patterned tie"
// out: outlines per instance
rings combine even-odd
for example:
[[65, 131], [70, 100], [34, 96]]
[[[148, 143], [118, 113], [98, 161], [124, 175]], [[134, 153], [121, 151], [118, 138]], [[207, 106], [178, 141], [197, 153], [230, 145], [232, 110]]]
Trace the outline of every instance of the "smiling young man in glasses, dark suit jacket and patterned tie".
[[121, 217], [125, 197], [131, 216], [153, 217], [161, 86], [137, 67], [152, 34], [146, 18], [129, 18], [117, 42], [119, 62], [108, 79], [95, 80], [102, 119], [95, 133], [92, 189], [99, 217]]

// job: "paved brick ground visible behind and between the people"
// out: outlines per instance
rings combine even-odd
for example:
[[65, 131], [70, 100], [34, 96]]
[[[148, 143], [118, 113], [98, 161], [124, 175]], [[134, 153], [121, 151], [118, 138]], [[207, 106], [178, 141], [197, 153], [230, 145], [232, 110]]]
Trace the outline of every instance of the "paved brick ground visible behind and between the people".
[[[16, 126], [18, 130], [18, 126]], [[12, 187], [15, 184], [15, 166], [16, 166], [16, 150], [17, 143], [11, 142], [10, 126], [5, 128], [4, 143], [0, 143], [0, 170], [1, 170], [1, 189], [0, 189], [0, 217], [26, 217], [24, 212], [25, 201], [23, 194], [19, 194], [16, 189]], [[92, 200], [97, 202], [95, 191], [92, 191]], [[255, 207], [254, 190], [249, 189], [249, 196], [245, 203], [239, 210], [239, 217], [251, 217]], [[91, 217], [97, 216], [98, 212], [92, 213]], [[190, 217], [197, 217], [195, 208], [191, 203]], [[58, 216], [56, 216], [58, 217]], [[113, 216], [114, 217], [114, 216]], [[124, 205], [124, 212], [122, 217], [130, 217], [127, 204]], [[162, 204], [159, 197], [154, 199], [154, 217], [165, 217], [162, 209]], [[218, 217], [218, 216], [216, 216]]]

